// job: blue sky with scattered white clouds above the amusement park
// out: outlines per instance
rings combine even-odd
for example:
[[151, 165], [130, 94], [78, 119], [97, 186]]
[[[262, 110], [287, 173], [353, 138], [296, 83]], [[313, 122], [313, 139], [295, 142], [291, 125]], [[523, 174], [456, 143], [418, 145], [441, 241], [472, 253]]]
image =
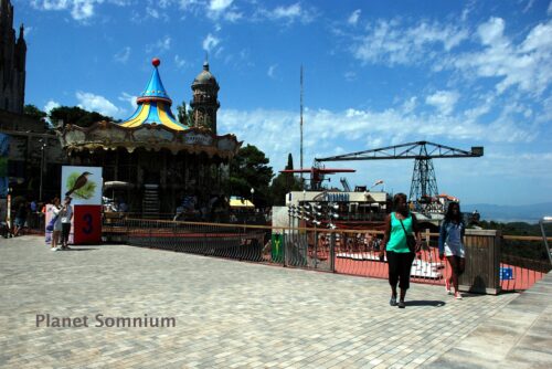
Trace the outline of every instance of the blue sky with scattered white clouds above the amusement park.
[[[481, 158], [434, 159], [463, 203], [552, 199], [552, 3], [503, 1], [12, 0], [25, 27], [25, 103], [127, 118], [151, 59], [176, 106], [205, 57], [220, 84], [219, 135], [255, 145], [275, 172], [427, 140]], [[413, 160], [352, 168], [330, 186], [410, 193]], [[328, 184], [328, 182], [326, 182]]]

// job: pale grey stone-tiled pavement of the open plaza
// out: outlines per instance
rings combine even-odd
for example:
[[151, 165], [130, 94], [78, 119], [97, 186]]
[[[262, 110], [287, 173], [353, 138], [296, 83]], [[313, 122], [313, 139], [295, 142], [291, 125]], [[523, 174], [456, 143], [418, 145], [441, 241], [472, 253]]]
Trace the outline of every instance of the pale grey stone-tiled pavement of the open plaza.
[[[548, 321], [551, 336], [550, 297], [537, 321], [530, 306], [511, 308], [519, 294], [455, 301], [440, 286], [414, 284], [399, 309], [389, 306], [384, 280], [125, 245], [74, 249], [51, 252], [36, 236], [0, 239], [0, 367], [446, 367], [463, 360], [459, 349], [477, 349], [469, 339], [478, 330], [509, 326], [510, 314], [526, 327]], [[46, 314], [51, 325], [87, 317], [88, 327], [36, 327]], [[146, 315], [176, 326], [128, 327]]]

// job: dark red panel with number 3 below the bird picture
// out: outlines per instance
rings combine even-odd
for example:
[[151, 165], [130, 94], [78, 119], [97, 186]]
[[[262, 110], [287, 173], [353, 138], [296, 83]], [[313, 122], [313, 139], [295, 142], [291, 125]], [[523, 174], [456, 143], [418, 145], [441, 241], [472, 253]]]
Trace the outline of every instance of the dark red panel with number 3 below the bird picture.
[[102, 205], [74, 205], [74, 244], [102, 242]]

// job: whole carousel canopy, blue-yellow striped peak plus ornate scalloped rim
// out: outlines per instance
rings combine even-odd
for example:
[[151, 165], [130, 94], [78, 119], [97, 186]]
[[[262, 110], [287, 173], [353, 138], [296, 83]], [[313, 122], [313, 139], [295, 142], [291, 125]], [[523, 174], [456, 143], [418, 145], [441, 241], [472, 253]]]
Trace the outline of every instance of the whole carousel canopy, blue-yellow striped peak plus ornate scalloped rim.
[[125, 148], [132, 152], [137, 148], [159, 151], [168, 149], [173, 155], [180, 151], [205, 154], [232, 159], [241, 141], [232, 134], [217, 136], [204, 127], [187, 127], [177, 122], [170, 106], [172, 101], [164, 91], [159, 76], [160, 61], [153, 59], [153, 73], [146, 89], [136, 99], [136, 112], [125, 122], [96, 122], [89, 127], [66, 124], [59, 128], [62, 147], [73, 151], [96, 149], [116, 150]]

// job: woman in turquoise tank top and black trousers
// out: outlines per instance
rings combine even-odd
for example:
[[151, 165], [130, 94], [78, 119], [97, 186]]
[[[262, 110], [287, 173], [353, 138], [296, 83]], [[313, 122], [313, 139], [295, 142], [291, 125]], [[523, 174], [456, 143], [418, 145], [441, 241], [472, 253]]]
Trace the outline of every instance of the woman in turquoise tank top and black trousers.
[[[385, 233], [380, 251], [380, 259], [383, 260], [384, 253], [389, 263], [389, 284], [391, 286], [391, 306], [405, 308], [404, 298], [410, 288], [410, 277], [412, 262], [415, 251], [420, 249], [421, 235], [417, 228], [416, 217], [410, 211], [406, 202], [406, 194], [397, 193], [393, 197], [393, 209], [385, 219]], [[415, 245], [408, 247], [407, 236], [415, 233]], [[412, 249], [412, 250], [411, 250]], [[397, 302], [396, 286], [401, 288]]]

